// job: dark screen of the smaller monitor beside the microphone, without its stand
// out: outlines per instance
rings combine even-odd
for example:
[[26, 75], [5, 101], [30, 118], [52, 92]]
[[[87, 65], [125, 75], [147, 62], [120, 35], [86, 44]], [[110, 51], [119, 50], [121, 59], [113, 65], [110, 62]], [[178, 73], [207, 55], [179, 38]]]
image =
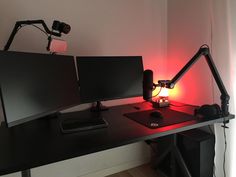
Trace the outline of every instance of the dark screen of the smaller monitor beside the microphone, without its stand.
[[141, 56], [79, 56], [81, 102], [142, 96]]

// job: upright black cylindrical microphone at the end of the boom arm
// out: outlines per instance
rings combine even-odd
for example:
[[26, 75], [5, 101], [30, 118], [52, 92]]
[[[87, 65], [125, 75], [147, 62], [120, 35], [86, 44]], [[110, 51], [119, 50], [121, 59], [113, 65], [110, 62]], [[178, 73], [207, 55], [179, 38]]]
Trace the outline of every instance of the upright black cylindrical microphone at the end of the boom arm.
[[152, 70], [145, 70], [143, 72], [143, 99], [150, 101], [152, 99], [153, 91], [153, 72]]

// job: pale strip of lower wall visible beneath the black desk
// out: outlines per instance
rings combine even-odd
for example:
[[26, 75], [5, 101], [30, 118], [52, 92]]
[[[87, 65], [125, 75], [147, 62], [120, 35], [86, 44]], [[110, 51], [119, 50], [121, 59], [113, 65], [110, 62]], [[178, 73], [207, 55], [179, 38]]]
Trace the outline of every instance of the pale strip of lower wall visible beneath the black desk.
[[104, 177], [150, 161], [144, 142], [109, 149], [31, 170], [32, 177]]

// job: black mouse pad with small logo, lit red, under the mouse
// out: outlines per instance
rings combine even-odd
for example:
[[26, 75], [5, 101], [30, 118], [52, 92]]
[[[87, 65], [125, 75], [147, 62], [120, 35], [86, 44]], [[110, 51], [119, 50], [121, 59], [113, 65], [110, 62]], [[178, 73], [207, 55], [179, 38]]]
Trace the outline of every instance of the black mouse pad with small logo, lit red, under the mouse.
[[[156, 117], [150, 116], [150, 113], [154, 111], [161, 112], [162, 118], [156, 118]], [[151, 129], [165, 127], [168, 125], [178, 124], [178, 123], [196, 119], [196, 117], [190, 114], [175, 111], [169, 108], [161, 108], [158, 110], [152, 109], [152, 110], [126, 113], [124, 114], [124, 116]]]

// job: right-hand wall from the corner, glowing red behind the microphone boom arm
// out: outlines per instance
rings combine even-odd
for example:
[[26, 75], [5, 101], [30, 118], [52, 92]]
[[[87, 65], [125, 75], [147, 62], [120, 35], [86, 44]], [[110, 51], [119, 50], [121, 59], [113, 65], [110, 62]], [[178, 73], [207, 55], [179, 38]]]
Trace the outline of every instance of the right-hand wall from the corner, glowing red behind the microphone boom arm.
[[[168, 1], [167, 23], [167, 68], [168, 78], [172, 79], [202, 44], [211, 45], [208, 1]], [[201, 58], [170, 91], [171, 98], [190, 104], [211, 103], [213, 87], [210, 75], [205, 59]]]

